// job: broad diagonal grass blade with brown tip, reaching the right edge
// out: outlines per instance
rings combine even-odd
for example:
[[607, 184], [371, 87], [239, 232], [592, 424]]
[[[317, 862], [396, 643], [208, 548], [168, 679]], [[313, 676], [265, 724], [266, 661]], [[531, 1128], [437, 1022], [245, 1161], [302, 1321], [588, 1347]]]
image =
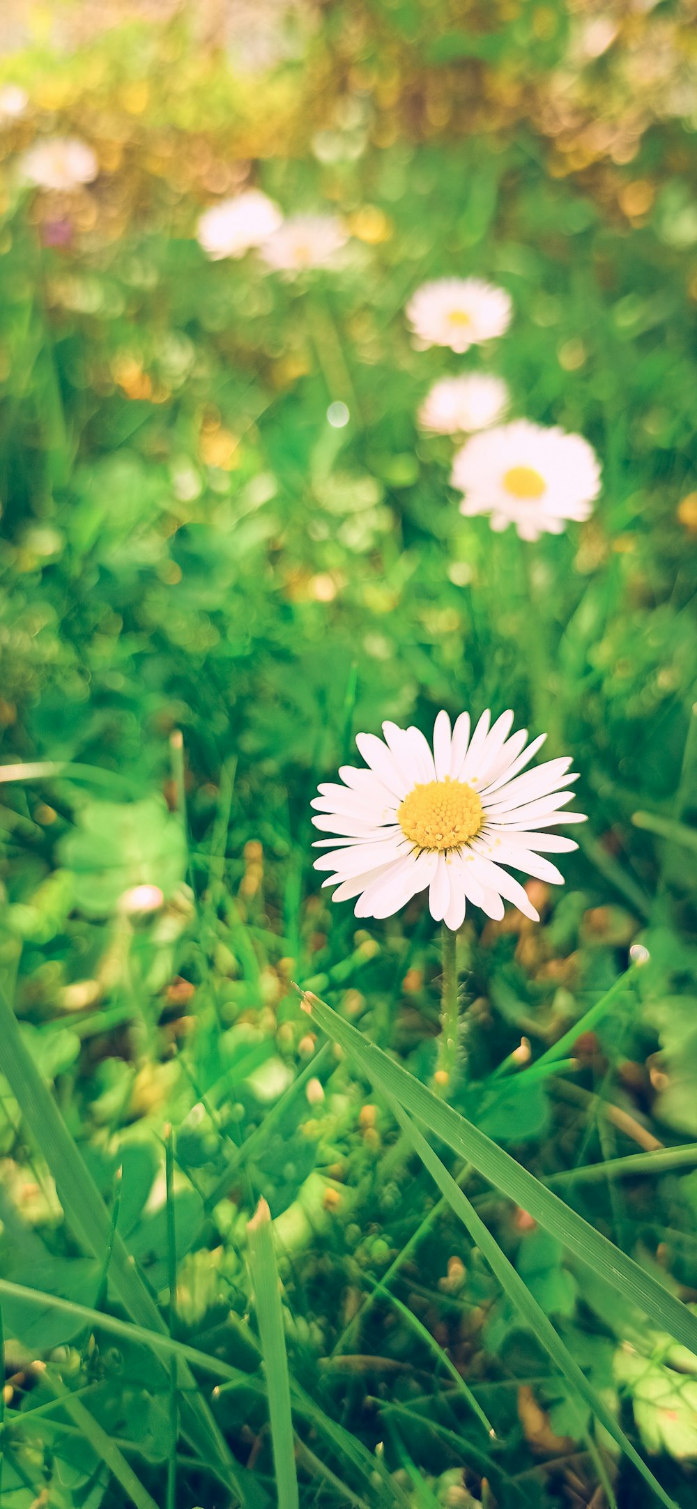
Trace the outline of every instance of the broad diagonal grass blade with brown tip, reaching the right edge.
[[394, 1096], [400, 1105], [409, 1109], [410, 1115], [416, 1115], [430, 1132], [472, 1163], [490, 1185], [495, 1185], [501, 1194], [527, 1210], [545, 1231], [555, 1236], [563, 1246], [567, 1246], [613, 1289], [620, 1295], [626, 1295], [629, 1290], [644, 1313], [661, 1323], [661, 1329], [668, 1331], [676, 1342], [682, 1342], [697, 1355], [697, 1316], [670, 1295], [652, 1274], [646, 1274], [634, 1259], [588, 1225], [576, 1210], [564, 1204], [534, 1174], [516, 1163], [510, 1153], [492, 1142], [484, 1132], [466, 1121], [445, 1100], [434, 1096], [401, 1064], [368, 1043], [326, 1002], [303, 993], [303, 1005], [314, 1022], [353, 1056], [377, 1088]]

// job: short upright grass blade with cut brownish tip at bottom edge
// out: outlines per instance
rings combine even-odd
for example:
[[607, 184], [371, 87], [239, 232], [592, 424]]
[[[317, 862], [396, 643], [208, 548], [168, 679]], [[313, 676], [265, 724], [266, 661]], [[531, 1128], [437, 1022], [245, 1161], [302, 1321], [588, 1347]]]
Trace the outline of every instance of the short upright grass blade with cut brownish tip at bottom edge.
[[249, 1271], [256, 1302], [261, 1351], [264, 1354], [273, 1465], [276, 1470], [278, 1509], [299, 1509], [293, 1412], [285, 1352], [281, 1280], [273, 1248], [272, 1212], [259, 1200], [247, 1225]]

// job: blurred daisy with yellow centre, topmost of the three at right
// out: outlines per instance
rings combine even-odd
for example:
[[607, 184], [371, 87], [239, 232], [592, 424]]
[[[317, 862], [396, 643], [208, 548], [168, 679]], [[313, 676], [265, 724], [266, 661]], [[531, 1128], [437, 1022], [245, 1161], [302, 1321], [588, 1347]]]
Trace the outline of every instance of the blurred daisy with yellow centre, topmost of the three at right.
[[508, 329], [510, 296], [481, 278], [439, 278], [412, 294], [406, 317], [422, 346], [466, 352]]

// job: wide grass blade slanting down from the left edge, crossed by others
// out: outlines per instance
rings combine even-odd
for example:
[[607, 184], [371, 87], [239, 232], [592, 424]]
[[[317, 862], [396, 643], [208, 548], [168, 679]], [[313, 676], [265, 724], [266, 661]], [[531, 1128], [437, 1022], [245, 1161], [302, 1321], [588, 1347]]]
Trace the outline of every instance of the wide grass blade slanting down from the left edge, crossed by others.
[[[0, 1038], [3, 1043], [3, 1074], [20, 1106], [29, 1136], [45, 1159], [59, 1194], [68, 1225], [72, 1228], [83, 1251], [101, 1257], [112, 1240], [112, 1221], [92, 1174], [83, 1163], [60, 1115], [56, 1100], [42, 1079], [21, 1037], [17, 1017], [3, 991], [0, 991]], [[128, 1249], [116, 1231], [113, 1234], [112, 1266], [109, 1274], [121, 1304], [136, 1323], [148, 1331], [166, 1332], [161, 1314], [145, 1287]], [[183, 1428], [204, 1459], [216, 1464], [223, 1482], [238, 1495], [243, 1504], [255, 1509], [263, 1501], [258, 1486], [249, 1486], [240, 1477], [226, 1441], [220, 1434], [205, 1400], [198, 1394], [195, 1379], [186, 1363], [180, 1364], [178, 1384], [181, 1390]]]

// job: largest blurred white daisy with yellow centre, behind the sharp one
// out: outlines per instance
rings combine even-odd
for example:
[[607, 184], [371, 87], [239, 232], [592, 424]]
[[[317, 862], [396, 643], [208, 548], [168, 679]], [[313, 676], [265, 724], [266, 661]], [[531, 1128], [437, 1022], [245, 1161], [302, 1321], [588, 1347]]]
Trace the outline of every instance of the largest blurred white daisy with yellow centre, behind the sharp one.
[[451, 483], [465, 495], [466, 518], [489, 513], [492, 530], [514, 524], [522, 540], [537, 540], [590, 516], [600, 465], [582, 435], [514, 420], [474, 435], [454, 459]]

